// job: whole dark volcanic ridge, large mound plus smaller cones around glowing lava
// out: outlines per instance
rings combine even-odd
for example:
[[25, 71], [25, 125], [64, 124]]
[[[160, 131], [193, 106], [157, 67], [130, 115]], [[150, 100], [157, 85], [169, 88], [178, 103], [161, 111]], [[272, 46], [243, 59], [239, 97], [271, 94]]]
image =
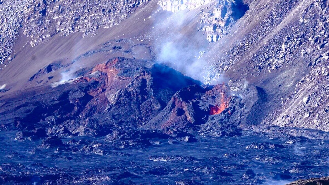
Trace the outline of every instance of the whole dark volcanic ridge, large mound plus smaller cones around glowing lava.
[[[210, 116], [210, 107], [221, 101], [221, 92], [227, 87], [201, 85], [164, 65], [115, 58], [89, 72], [84, 70], [83, 77], [70, 83], [2, 98], [11, 104], [2, 105], [0, 121], [7, 129], [22, 130], [18, 139], [45, 137], [44, 133], [28, 131], [41, 126], [47, 136], [59, 137], [102, 136], [114, 128], [125, 132], [138, 127], [180, 138], [198, 130], [214, 136], [240, 135], [237, 126], [246, 117], [246, 104], [252, 107], [255, 98], [249, 97], [256, 90], [242, 88], [240, 93], [248, 91], [247, 98], [232, 96], [229, 108]], [[189, 138], [193, 141], [192, 136]]]

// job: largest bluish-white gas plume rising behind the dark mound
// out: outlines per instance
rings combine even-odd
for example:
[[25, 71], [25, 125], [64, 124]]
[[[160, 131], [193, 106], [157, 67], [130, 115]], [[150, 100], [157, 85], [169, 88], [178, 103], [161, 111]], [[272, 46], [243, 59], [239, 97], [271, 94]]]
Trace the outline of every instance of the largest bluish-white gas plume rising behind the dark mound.
[[190, 25], [189, 16], [188, 11], [166, 13], [155, 23], [152, 35], [157, 60], [204, 82], [207, 64], [202, 55], [208, 42]]

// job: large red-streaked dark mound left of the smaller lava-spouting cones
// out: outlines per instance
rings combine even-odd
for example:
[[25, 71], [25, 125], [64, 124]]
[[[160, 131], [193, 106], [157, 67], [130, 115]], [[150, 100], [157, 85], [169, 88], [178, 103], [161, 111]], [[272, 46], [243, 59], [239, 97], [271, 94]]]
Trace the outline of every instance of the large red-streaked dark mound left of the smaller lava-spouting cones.
[[[51, 65], [44, 72], [55, 70]], [[56, 65], [55, 65], [56, 66]], [[83, 77], [14, 93], [0, 100], [4, 129], [18, 137], [43, 127], [48, 136], [106, 135], [156, 116], [180, 89], [201, 83], [160, 64], [125, 58], [94, 66]], [[44, 137], [44, 135], [42, 135]]]

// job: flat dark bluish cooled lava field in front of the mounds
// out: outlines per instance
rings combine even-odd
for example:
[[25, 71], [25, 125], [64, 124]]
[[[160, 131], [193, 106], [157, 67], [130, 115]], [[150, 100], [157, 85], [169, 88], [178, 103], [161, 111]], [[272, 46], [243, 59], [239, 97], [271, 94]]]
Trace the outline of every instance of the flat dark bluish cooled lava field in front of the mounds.
[[329, 141], [306, 138], [154, 138], [140, 147], [133, 140], [127, 145], [108, 137], [74, 137], [50, 148], [14, 138], [2, 132], [5, 184], [280, 184], [329, 175]]

